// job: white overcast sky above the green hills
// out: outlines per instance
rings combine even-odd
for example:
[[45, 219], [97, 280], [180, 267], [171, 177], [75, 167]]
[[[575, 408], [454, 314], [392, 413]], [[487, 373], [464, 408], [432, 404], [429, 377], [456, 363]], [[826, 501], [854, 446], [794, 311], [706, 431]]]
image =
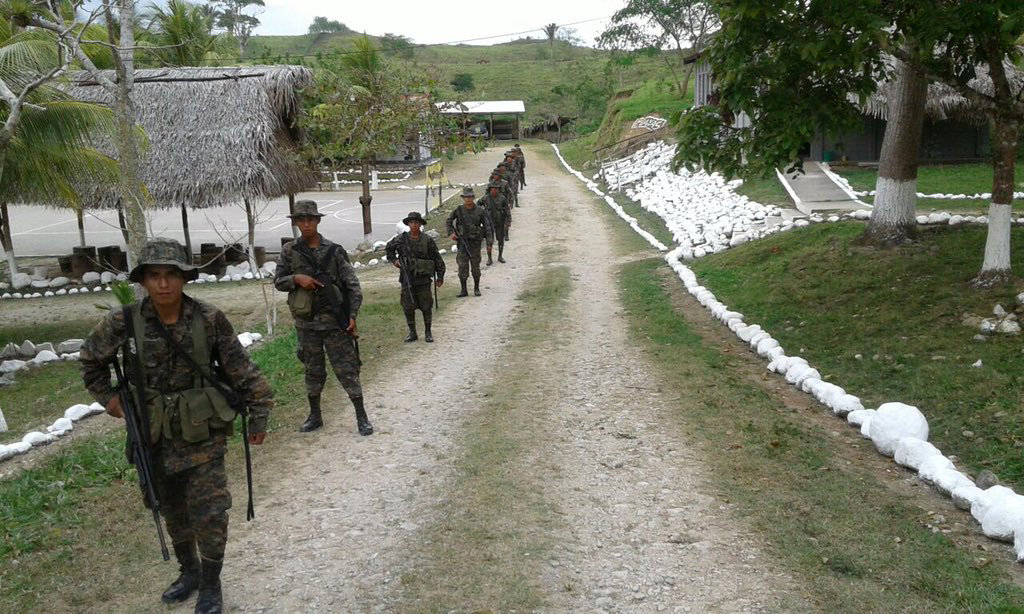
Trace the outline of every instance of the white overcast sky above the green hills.
[[[356, 32], [381, 35], [401, 34], [417, 43], [447, 43], [532, 30], [529, 36], [544, 36], [545, 24], [570, 24], [588, 45], [607, 24], [607, 17], [626, 0], [511, 0], [501, 3], [480, 0], [265, 0], [266, 9], [256, 34], [305, 34], [317, 15], [337, 19]], [[523, 35], [487, 39], [473, 44], [492, 44]]]

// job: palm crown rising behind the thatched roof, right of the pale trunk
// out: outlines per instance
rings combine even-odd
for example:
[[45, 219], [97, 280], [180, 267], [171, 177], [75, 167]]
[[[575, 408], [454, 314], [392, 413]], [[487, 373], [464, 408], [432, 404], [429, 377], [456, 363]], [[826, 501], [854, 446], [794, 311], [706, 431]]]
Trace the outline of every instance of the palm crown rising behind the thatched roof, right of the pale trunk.
[[162, 65], [198, 67], [227, 50], [224, 36], [213, 33], [215, 16], [207, 5], [168, 0], [153, 5], [148, 19], [142, 40]]

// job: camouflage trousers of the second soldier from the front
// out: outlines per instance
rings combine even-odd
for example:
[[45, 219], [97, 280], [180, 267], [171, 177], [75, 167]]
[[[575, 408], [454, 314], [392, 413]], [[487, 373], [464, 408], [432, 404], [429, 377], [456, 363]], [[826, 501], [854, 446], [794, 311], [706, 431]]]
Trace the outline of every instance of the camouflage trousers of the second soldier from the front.
[[341, 387], [349, 398], [362, 396], [359, 384], [359, 358], [355, 353], [352, 338], [340, 328], [321, 331], [296, 328], [299, 346], [296, 354], [306, 370], [306, 395], [319, 396], [327, 383], [327, 363], [324, 354], [331, 359], [331, 367]]

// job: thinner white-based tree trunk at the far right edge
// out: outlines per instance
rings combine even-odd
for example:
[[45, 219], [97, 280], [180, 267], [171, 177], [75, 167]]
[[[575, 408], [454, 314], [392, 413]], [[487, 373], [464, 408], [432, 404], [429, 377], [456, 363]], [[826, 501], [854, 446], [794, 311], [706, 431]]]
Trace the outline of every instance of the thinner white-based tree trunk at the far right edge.
[[1016, 120], [997, 117], [992, 127], [992, 203], [988, 207], [988, 236], [985, 239], [985, 261], [974, 286], [991, 288], [1009, 281], [1010, 225], [1014, 202], [1014, 165], [1020, 142], [1020, 124]]

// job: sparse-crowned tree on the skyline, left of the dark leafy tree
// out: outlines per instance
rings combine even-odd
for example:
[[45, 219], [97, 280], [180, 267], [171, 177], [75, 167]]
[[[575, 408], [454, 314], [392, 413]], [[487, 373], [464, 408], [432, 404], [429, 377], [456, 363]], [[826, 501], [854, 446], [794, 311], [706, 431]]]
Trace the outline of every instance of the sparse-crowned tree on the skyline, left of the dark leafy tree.
[[[658, 52], [672, 71], [680, 94], [685, 96], [693, 73], [693, 64], [685, 60], [705, 48], [719, 25], [710, 1], [629, 0], [611, 16], [611, 25], [597, 41], [599, 46], [611, 49]], [[660, 53], [665, 49], [672, 51], [675, 61]]]

